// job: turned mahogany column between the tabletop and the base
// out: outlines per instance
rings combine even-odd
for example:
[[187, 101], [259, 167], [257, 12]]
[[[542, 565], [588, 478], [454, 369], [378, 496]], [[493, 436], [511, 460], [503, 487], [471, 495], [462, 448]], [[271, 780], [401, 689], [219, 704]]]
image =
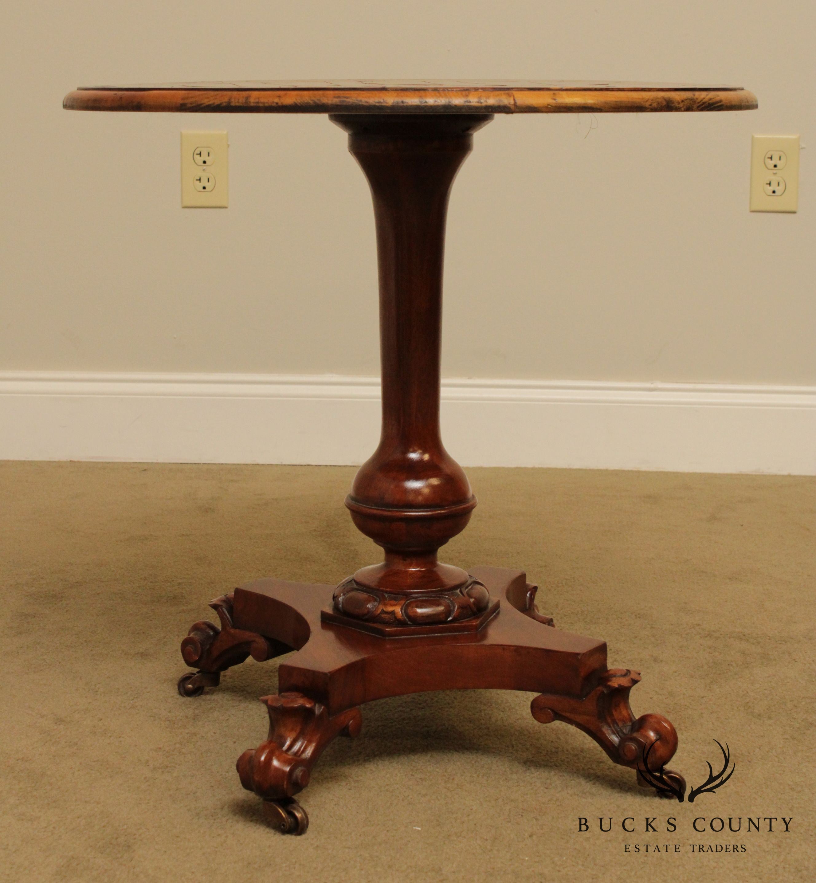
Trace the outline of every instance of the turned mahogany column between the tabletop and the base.
[[[335, 610], [390, 627], [480, 619], [487, 589], [437, 561], [476, 499], [442, 446], [442, 257], [450, 185], [487, 114], [343, 114], [374, 198], [380, 275], [382, 436], [346, 506], [385, 560], [337, 587]], [[351, 623], [350, 623], [351, 624]], [[390, 631], [390, 629], [389, 629]]]

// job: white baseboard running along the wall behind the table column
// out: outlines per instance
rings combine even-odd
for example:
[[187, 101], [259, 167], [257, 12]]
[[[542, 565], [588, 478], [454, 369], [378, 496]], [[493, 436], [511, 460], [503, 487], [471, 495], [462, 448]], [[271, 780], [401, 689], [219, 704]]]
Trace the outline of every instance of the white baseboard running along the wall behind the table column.
[[[359, 464], [374, 378], [0, 373], [0, 459]], [[465, 466], [816, 474], [816, 387], [450, 380]]]

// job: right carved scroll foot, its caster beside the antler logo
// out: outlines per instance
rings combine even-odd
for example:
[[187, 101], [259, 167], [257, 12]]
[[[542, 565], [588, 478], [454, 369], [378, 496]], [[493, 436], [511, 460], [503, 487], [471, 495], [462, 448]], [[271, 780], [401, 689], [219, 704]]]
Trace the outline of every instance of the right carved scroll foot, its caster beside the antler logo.
[[585, 698], [542, 693], [530, 710], [541, 723], [564, 721], [582, 729], [616, 764], [637, 770], [639, 785], [682, 800], [683, 776], [664, 768], [677, 750], [675, 728], [660, 714], [636, 720], [631, 712], [629, 691], [639, 680], [637, 671], [610, 668]]

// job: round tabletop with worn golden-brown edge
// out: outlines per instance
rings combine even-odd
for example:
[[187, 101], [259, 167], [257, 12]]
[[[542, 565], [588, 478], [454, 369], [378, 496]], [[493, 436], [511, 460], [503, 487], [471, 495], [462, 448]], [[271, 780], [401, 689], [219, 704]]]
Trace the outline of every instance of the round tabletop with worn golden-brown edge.
[[70, 110], [207, 113], [580, 113], [752, 110], [737, 86], [536, 79], [302, 79], [83, 86]]

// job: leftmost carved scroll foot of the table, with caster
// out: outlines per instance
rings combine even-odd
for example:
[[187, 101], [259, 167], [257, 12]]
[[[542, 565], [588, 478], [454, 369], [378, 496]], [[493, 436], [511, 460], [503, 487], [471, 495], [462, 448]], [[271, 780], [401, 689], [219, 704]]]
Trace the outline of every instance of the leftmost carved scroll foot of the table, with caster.
[[221, 673], [248, 656], [263, 662], [288, 649], [253, 631], [236, 629], [232, 622], [232, 595], [222, 595], [210, 601], [209, 606], [218, 614], [221, 628], [203, 620], [193, 623], [181, 642], [182, 658], [187, 665], [198, 668], [194, 674], [188, 672], [179, 678], [181, 696], [200, 696], [205, 687], [217, 687]]

